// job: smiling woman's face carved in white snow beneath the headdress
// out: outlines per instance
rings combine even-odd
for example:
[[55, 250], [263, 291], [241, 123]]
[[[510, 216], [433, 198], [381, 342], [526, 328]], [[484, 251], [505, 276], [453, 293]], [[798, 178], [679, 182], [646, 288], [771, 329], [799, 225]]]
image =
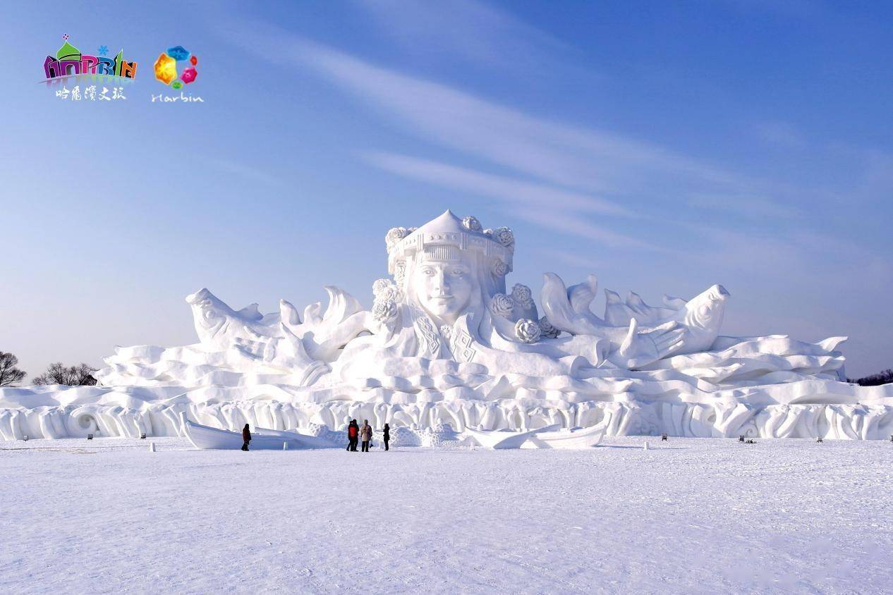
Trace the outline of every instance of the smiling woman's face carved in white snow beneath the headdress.
[[442, 261], [422, 257], [411, 282], [421, 307], [450, 325], [472, 302], [472, 267], [464, 258]]

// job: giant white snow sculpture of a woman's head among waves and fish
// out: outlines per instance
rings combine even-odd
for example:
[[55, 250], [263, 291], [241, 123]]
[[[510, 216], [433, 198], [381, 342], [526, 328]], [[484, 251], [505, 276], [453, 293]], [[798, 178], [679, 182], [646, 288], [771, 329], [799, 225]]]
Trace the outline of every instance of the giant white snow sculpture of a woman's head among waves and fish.
[[[606, 292], [599, 317], [595, 277], [567, 286], [546, 273], [540, 316], [528, 286], [506, 289], [507, 227], [447, 211], [394, 227], [385, 244], [389, 277], [369, 310], [337, 287], [325, 309], [281, 301], [265, 315], [202, 289], [187, 298], [199, 343], [117, 348], [97, 386], [0, 390], [0, 434], [171, 435], [180, 413], [233, 431], [338, 430], [347, 418], [459, 433], [581, 428], [579, 440], [555, 429], [527, 442], [555, 447], [623, 434], [893, 434], [893, 385], [844, 382], [843, 337], [720, 335], [722, 285], [659, 307]], [[586, 434], [593, 426], [604, 431]]]

